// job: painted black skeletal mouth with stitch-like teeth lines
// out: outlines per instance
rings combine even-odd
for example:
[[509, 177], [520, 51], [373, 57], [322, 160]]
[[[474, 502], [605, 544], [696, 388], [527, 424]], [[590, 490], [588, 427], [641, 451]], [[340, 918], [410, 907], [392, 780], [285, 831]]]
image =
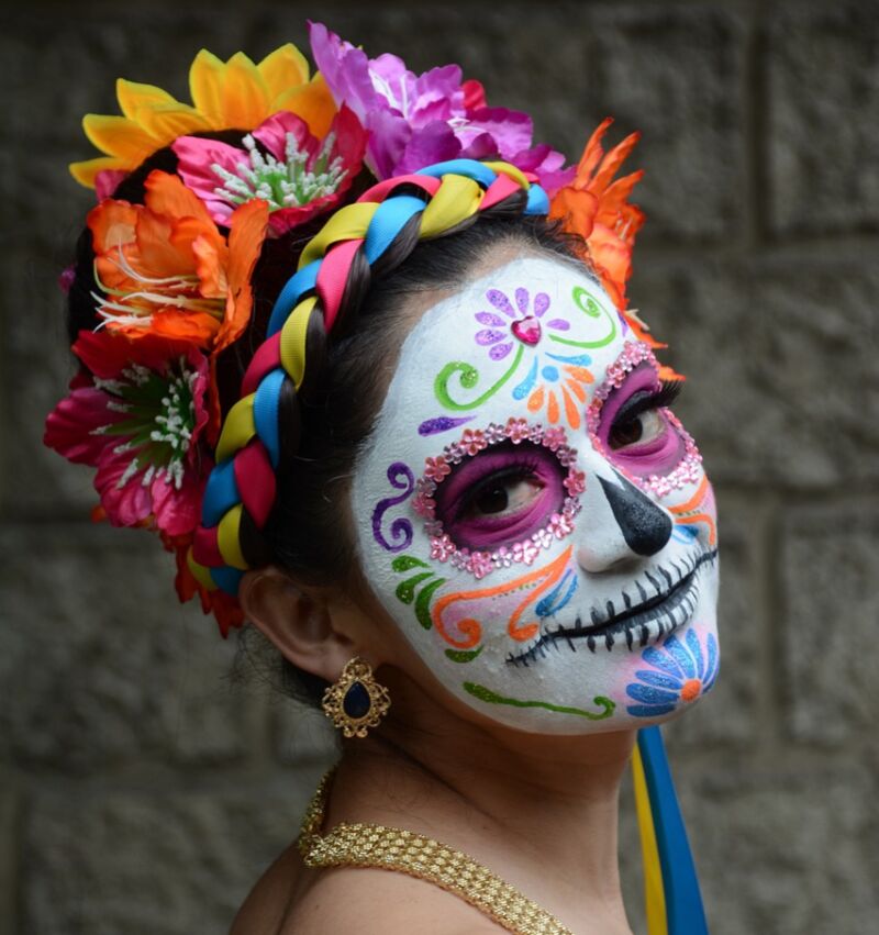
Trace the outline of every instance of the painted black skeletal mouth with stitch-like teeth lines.
[[715, 548], [703, 552], [692, 559], [685, 559], [683, 568], [680, 567], [680, 559], [671, 563], [671, 567], [678, 572], [677, 580], [661, 566], [646, 571], [647, 581], [656, 590], [654, 597], [649, 597], [645, 587], [639, 581], [635, 581], [635, 588], [641, 598], [638, 604], [633, 605], [632, 599], [623, 591], [622, 603], [625, 610], [617, 612], [613, 601], [608, 601], [603, 615], [597, 610], [591, 611], [592, 623], [589, 626], [586, 626], [578, 615], [572, 626], [559, 625], [557, 630], [547, 630], [524, 653], [518, 656], [509, 655], [507, 664], [528, 666], [536, 661], [538, 655], [545, 657], [548, 648], [554, 647], [558, 650], [559, 645], [564, 643], [567, 643], [568, 647], [576, 653], [575, 641], [578, 639], [586, 641], [590, 653], [594, 653], [599, 645], [603, 645], [610, 652], [620, 637], [625, 639], [630, 650], [636, 646], [656, 643], [663, 635], [669, 635], [682, 626], [692, 615], [699, 600], [697, 581], [699, 569], [703, 565], [713, 563], [716, 557]]

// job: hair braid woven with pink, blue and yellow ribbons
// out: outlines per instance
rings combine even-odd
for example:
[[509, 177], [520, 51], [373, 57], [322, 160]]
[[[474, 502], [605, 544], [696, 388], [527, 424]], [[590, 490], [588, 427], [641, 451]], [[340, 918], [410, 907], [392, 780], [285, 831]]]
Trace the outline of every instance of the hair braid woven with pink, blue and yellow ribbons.
[[302, 439], [303, 404], [313, 398], [329, 335], [369, 292], [372, 278], [399, 266], [422, 241], [491, 216], [545, 215], [537, 185], [505, 163], [457, 159], [386, 179], [337, 211], [305, 245], [283, 286], [229, 411], [216, 446], [190, 568], [208, 589], [237, 591], [243, 572], [271, 560], [264, 534]]

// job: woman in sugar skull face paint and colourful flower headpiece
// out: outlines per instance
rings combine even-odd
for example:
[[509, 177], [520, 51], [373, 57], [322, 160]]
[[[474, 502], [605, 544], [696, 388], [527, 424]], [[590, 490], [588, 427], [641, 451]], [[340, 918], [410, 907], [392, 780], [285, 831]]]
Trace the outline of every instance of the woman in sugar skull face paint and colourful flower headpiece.
[[454, 66], [311, 40], [87, 118], [47, 425], [347, 738], [233, 932], [628, 932], [638, 728], [650, 932], [704, 931], [649, 725], [716, 677], [715, 520], [625, 307], [634, 137], [565, 169]]

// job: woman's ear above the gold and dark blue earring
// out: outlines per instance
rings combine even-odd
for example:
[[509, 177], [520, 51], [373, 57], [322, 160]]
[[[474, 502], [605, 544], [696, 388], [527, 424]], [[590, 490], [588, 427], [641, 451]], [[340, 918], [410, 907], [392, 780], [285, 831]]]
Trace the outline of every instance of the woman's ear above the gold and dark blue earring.
[[298, 585], [272, 565], [245, 574], [238, 600], [251, 623], [307, 672], [332, 682], [359, 655], [356, 627], [334, 612], [325, 592]]

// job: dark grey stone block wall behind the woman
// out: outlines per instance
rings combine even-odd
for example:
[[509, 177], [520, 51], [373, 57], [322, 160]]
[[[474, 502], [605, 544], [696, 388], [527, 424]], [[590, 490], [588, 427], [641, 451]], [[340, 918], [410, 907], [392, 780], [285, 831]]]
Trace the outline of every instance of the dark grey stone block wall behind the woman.
[[[136, 5], [136, 9], [134, 9]], [[722, 511], [724, 674], [668, 730], [716, 935], [879, 917], [879, 3], [137, 4], [0, 13], [0, 935], [210, 935], [332, 754], [145, 534], [96, 527], [41, 449], [69, 363], [55, 280], [90, 196], [79, 116], [118, 75], [185, 92], [201, 45], [308, 15], [416, 69], [458, 60], [537, 138], [639, 127], [634, 304], [691, 377]], [[623, 871], [643, 931], [636, 841]]]

